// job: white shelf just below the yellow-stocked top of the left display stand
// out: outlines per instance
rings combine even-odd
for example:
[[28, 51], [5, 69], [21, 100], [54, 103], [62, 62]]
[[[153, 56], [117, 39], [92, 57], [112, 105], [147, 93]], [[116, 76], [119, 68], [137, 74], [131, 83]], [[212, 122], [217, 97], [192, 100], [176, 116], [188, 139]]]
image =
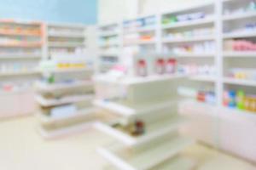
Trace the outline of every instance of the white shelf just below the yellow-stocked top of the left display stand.
[[66, 82], [66, 83], [55, 83], [55, 84], [38, 82], [37, 88], [38, 90], [43, 92], [53, 92], [57, 90], [65, 90], [68, 88], [93, 88], [93, 82], [80, 81], [80, 82]]

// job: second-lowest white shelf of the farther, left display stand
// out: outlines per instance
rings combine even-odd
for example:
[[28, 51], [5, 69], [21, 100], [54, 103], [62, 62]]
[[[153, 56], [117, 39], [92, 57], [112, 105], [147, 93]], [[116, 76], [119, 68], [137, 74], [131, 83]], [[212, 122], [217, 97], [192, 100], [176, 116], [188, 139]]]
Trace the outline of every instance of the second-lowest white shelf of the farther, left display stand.
[[40, 112], [40, 113], [38, 113], [38, 117], [40, 119], [40, 122], [42, 122], [44, 124], [49, 124], [49, 123], [67, 121], [67, 120], [71, 120], [73, 118], [94, 115], [96, 113], [96, 111], [97, 110], [95, 108], [85, 108], [83, 110], [77, 111], [76, 113], [70, 114], [69, 116], [59, 116], [59, 117], [47, 116], [44, 113]]

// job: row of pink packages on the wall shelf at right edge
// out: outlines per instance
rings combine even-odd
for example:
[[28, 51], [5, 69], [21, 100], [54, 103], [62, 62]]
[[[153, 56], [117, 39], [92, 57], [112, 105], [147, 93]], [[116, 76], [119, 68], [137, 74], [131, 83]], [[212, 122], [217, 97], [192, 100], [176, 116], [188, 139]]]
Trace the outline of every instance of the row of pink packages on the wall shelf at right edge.
[[230, 40], [225, 48], [233, 51], [256, 51], [256, 43], [247, 40]]

